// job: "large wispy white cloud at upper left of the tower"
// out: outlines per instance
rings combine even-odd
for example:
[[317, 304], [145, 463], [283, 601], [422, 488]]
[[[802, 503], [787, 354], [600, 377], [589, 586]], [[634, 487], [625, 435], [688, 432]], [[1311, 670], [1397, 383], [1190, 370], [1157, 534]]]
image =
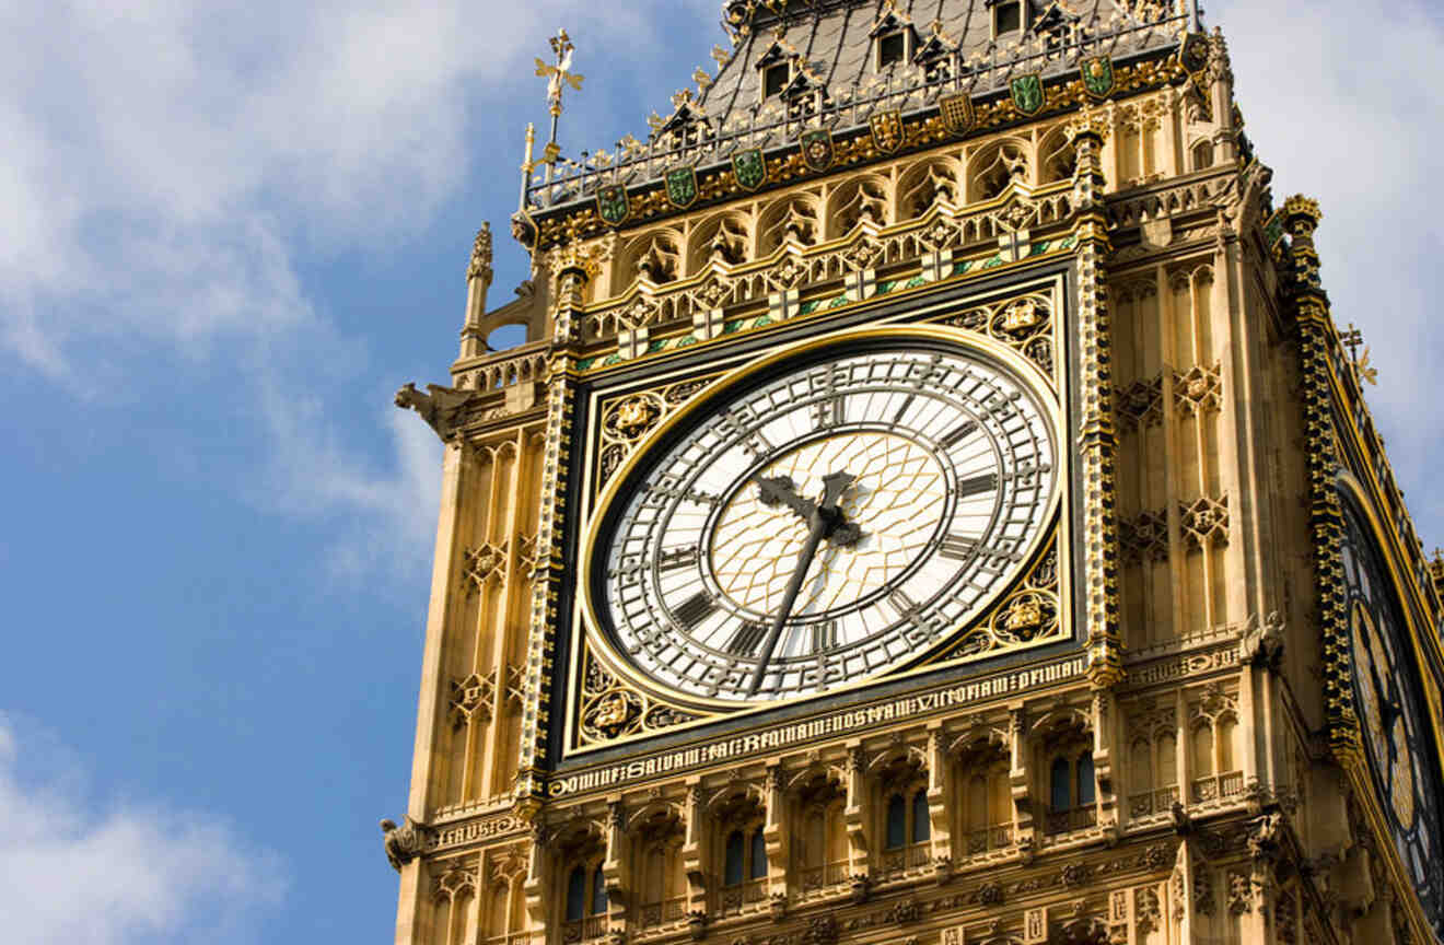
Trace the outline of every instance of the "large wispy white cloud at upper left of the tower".
[[[388, 463], [348, 446], [315, 366], [354, 384], [365, 345], [300, 265], [384, 252], [472, 159], [494, 172], [500, 79], [530, 79], [517, 61], [556, 22], [619, 48], [645, 16], [559, 0], [0, 0], [0, 356], [97, 400], [153, 384], [157, 358], [224, 352], [253, 365], [227, 397], [258, 407], [260, 427], [237, 433], [264, 441], [260, 505], [355, 512], [342, 570], [374, 561], [377, 538], [429, 547], [439, 446], [394, 411], [362, 434], [390, 434]], [[209, 405], [204, 390], [191, 400]]]

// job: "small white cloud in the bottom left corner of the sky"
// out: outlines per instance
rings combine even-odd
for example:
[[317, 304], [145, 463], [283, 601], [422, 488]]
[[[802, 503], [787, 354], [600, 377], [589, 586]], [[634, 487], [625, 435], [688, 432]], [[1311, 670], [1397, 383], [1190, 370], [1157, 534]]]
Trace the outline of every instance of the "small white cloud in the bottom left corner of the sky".
[[[39, 778], [36, 772], [43, 772]], [[280, 864], [202, 812], [92, 811], [85, 772], [0, 716], [0, 916], [27, 945], [227, 941], [284, 893]]]

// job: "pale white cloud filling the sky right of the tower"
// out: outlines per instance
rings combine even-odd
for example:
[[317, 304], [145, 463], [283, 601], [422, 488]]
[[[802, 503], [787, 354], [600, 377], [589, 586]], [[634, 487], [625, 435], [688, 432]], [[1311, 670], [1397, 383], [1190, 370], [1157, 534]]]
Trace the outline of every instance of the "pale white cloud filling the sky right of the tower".
[[1235, 94], [1276, 199], [1320, 201], [1321, 277], [1334, 317], [1365, 332], [1379, 366], [1366, 388], [1425, 541], [1444, 541], [1444, 502], [1424, 489], [1444, 460], [1434, 400], [1444, 332], [1434, 317], [1444, 251], [1428, 208], [1438, 175], [1444, 61], [1438, 10], [1418, 0], [1328, 4], [1227, 0], [1212, 7], [1236, 75]]

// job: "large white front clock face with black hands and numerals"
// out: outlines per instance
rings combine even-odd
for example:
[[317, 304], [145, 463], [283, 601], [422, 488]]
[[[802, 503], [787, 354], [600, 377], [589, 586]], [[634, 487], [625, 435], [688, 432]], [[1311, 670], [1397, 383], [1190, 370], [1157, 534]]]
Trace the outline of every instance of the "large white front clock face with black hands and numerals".
[[644, 685], [722, 704], [934, 652], [1054, 518], [1040, 381], [940, 329], [842, 335], [723, 378], [602, 496], [585, 560], [604, 652]]

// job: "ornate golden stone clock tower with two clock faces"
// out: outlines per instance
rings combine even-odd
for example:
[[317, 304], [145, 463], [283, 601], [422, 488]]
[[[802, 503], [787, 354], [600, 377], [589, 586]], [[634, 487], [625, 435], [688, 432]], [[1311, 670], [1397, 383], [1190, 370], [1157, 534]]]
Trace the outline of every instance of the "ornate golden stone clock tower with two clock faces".
[[[468, 270], [399, 945], [1424, 945], [1441, 566], [1196, 4], [729, 0]], [[492, 351], [497, 329], [526, 340]], [[516, 329], [513, 329], [516, 330]]]

